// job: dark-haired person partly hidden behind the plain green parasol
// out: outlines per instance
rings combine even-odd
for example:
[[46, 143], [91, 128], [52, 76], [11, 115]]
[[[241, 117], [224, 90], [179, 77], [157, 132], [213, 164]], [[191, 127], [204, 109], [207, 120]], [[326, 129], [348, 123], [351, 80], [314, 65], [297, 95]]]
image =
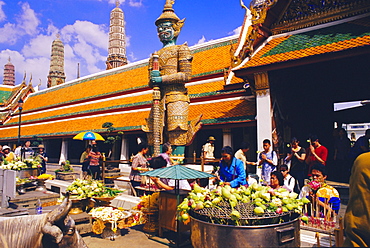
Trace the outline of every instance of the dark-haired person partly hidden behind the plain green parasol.
[[[164, 168], [166, 166], [167, 166], [167, 161], [162, 156], [153, 158], [151, 161], [151, 167], [153, 167], [154, 169]], [[164, 189], [164, 190], [175, 189], [176, 180], [174, 179], [158, 178], [158, 177], [151, 177], [150, 179], [155, 183], [155, 185], [159, 189]], [[188, 180], [178, 180], [178, 181], [179, 181], [179, 189], [191, 190]]]

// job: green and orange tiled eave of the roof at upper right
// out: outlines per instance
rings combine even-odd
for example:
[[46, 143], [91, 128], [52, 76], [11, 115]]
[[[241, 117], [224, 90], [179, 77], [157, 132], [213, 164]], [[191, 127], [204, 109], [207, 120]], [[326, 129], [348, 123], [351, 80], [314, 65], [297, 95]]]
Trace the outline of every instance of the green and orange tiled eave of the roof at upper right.
[[[337, 22], [336, 25], [302, 29], [270, 37], [241, 68], [253, 71], [262, 66], [279, 65], [299, 59], [370, 48], [370, 17]], [[259, 69], [261, 70], [261, 69]]]

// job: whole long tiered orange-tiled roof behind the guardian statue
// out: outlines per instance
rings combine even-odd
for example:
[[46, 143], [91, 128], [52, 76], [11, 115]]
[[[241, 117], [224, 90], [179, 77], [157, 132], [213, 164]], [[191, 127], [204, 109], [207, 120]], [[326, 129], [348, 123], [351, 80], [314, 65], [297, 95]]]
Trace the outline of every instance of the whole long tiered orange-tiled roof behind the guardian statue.
[[[191, 47], [193, 77], [186, 85], [191, 98], [189, 120], [202, 114], [204, 125], [254, 121], [255, 103], [243, 98], [246, 92], [241, 85], [225, 88], [224, 73], [235, 43], [235, 37], [228, 37]], [[117, 131], [140, 131], [151, 103], [148, 60], [142, 60], [30, 94], [23, 105], [22, 137], [105, 132], [102, 124], [107, 121]], [[17, 124], [14, 115], [1, 127], [0, 139], [14, 139]]]

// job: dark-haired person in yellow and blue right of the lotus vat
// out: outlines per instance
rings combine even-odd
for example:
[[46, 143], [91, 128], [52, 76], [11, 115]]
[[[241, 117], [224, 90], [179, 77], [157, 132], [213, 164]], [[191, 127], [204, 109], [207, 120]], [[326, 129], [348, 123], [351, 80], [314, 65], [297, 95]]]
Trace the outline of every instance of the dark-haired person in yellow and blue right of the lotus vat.
[[316, 192], [320, 207], [325, 208], [327, 211], [338, 213], [340, 208], [339, 193], [334, 187], [325, 183], [328, 177], [325, 165], [320, 163], [314, 164], [311, 174], [313, 181], [302, 188], [299, 198], [307, 197], [314, 200]]

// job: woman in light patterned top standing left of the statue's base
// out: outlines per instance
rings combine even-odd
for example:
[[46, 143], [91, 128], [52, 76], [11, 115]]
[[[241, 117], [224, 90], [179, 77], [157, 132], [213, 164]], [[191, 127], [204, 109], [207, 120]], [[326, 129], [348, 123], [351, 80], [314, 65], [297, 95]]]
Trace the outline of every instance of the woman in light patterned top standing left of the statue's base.
[[148, 160], [145, 158], [148, 150], [148, 145], [141, 142], [138, 145], [138, 153], [132, 158], [130, 182], [134, 188], [141, 184], [140, 172], [148, 171]]

